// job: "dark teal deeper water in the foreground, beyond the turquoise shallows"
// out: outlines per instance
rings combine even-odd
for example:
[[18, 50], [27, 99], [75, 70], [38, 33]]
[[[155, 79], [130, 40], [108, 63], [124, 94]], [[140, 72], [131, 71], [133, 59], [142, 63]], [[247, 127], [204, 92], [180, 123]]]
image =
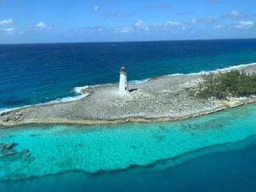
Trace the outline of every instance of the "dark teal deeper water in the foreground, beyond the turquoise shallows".
[[251, 137], [187, 154], [185, 163], [162, 170], [145, 166], [94, 175], [66, 172], [0, 182], [0, 191], [255, 191], [255, 151], [256, 138]]

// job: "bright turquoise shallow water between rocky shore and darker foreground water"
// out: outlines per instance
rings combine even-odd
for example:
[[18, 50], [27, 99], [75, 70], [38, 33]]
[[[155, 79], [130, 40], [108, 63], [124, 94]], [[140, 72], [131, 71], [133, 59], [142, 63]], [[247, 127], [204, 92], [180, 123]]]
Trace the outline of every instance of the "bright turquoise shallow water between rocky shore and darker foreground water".
[[[1, 127], [0, 143], [28, 154], [0, 157], [0, 180], [64, 172], [165, 170], [256, 135], [256, 104], [168, 123]], [[256, 141], [256, 140], [253, 140]]]

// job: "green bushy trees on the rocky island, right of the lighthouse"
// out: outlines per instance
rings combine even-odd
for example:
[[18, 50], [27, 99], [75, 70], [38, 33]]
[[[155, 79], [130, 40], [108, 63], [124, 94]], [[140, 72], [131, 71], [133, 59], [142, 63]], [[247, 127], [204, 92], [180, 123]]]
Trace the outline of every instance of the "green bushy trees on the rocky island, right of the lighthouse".
[[205, 74], [191, 94], [200, 99], [256, 95], [256, 73], [248, 74], [239, 70], [231, 70], [225, 73]]

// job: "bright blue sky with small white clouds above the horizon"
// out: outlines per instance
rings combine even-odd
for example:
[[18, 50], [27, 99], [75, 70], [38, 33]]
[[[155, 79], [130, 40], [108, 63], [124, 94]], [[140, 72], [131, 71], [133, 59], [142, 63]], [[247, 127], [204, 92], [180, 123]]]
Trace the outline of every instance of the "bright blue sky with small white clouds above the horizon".
[[256, 0], [0, 0], [0, 44], [256, 38]]

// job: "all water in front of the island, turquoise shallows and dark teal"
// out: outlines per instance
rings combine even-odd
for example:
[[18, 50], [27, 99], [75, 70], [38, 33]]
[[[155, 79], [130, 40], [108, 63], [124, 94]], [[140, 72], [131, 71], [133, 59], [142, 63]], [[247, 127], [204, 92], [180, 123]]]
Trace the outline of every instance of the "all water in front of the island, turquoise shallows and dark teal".
[[[255, 191], [256, 104], [189, 120], [0, 127], [0, 191]], [[22, 149], [28, 154], [20, 154]]]

